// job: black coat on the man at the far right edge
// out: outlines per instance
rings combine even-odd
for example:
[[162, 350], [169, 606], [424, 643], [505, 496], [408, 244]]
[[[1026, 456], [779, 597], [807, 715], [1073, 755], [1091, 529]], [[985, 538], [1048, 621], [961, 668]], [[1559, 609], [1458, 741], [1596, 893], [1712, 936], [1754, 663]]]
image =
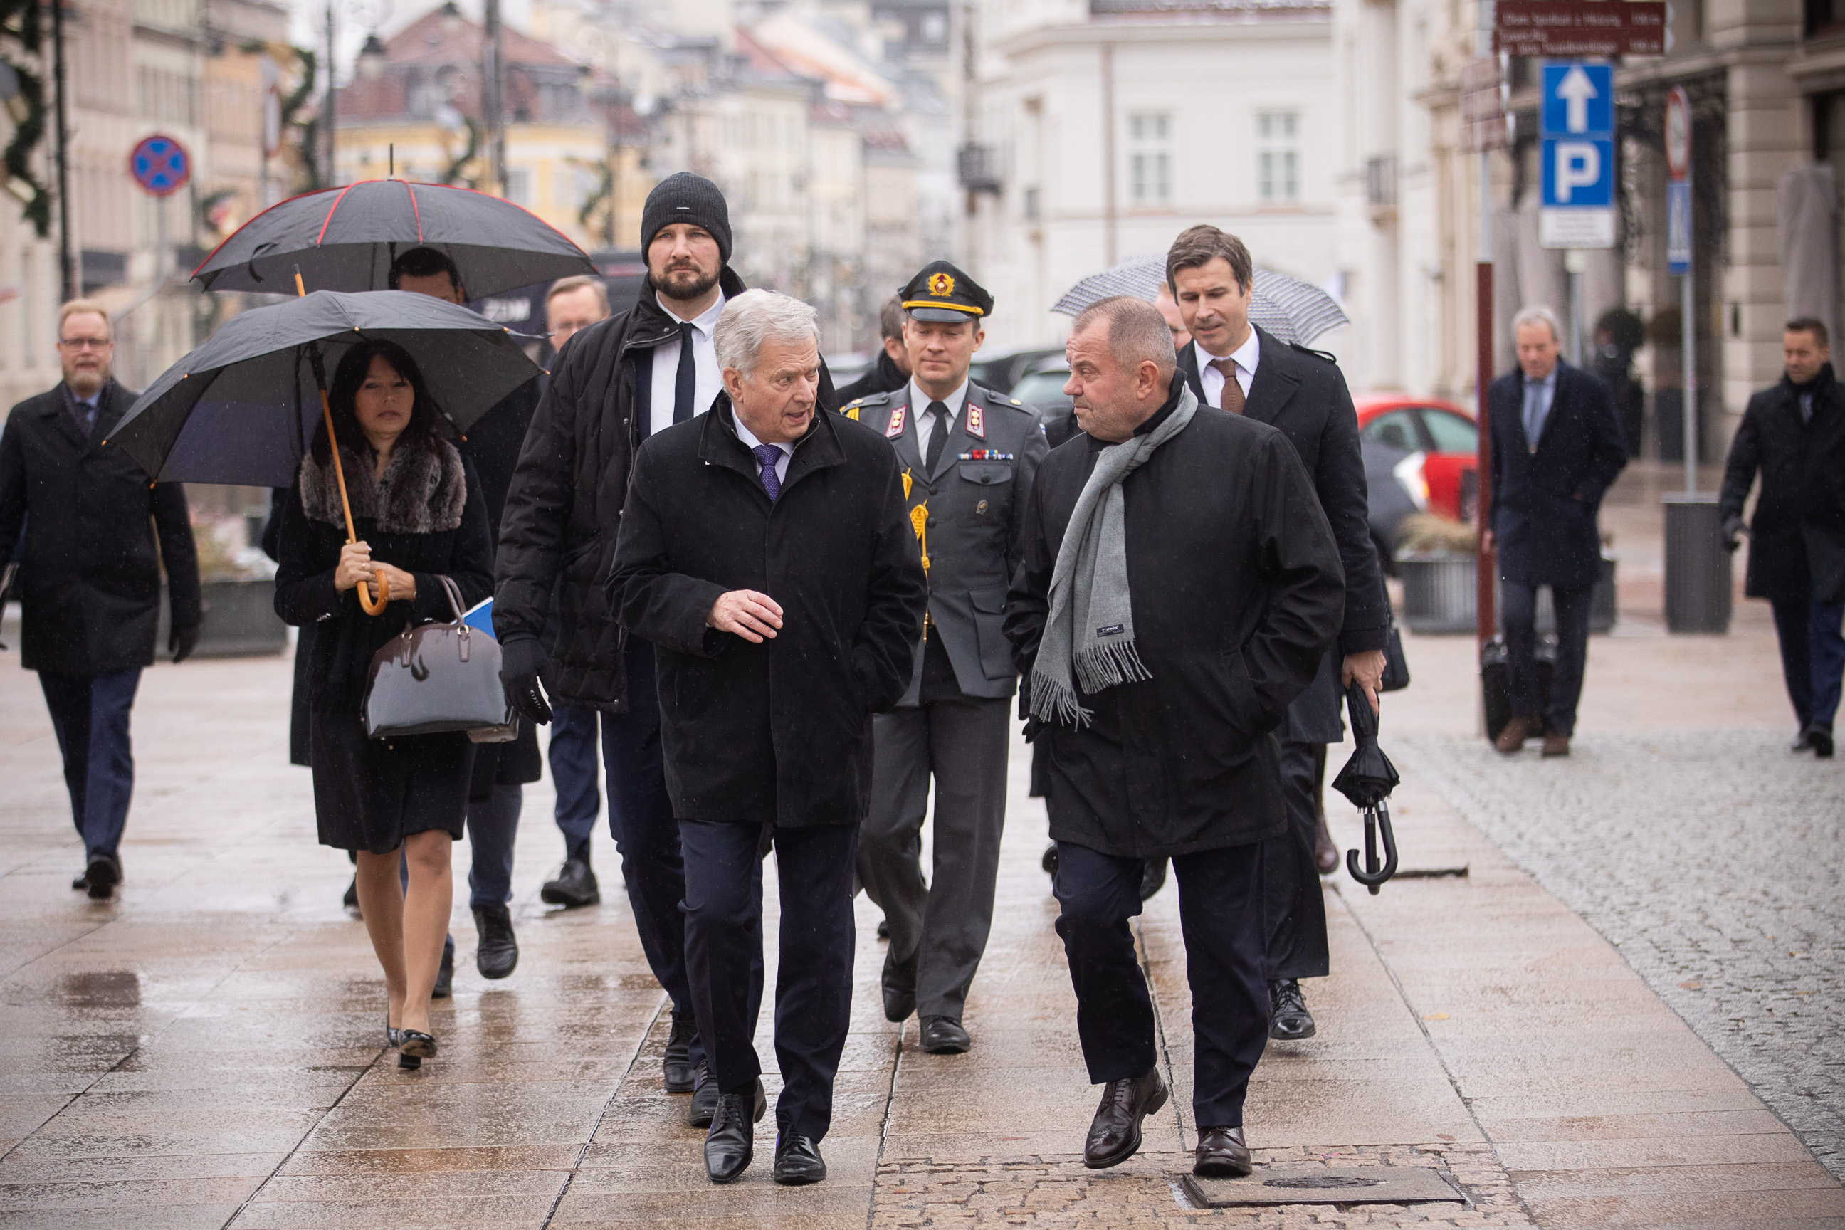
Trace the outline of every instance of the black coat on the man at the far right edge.
[[1814, 420], [1801, 420], [1786, 376], [1749, 398], [1723, 465], [1725, 518], [1742, 516], [1762, 474], [1749, 522], [1749, 597], [1845, 597], [1845, 385], [1827, 363], [1814, 380]]

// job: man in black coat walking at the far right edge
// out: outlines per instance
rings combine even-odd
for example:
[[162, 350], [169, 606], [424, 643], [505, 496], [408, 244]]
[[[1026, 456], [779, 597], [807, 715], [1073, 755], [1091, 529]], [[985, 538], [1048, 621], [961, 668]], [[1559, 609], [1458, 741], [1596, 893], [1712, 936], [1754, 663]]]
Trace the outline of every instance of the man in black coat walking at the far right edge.
[[[1786, 374], [1749, 398], [1723, 465], [1723, 538], [1749, 535], [1745, 594], [1766, 597], [1780, 673], [1801, 721], [1793, 751], [1832, 754], [1845, 675], [1845, 387], [1832, 374], [1827, 326], [1803, 317], [1780, 337]], [[1755, 476], [1762, 494], [1744, 529]]]

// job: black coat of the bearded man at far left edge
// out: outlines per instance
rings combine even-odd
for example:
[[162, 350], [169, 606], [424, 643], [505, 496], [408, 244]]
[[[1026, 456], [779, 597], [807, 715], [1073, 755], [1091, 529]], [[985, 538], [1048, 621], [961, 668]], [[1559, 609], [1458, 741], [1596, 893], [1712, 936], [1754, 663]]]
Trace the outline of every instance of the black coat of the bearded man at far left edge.
[[184, 489], [149, 487], [146, 470], [101, 443], [137, 396], [114, 380], [103, 385], [89, 439], [70, 417], [65, 385], [15, 406], [0, 430], [0, 559], [11, 559], [20, 529], [26, 535], [26, 669], [96, 677], [151, 666], [162, 564], [173, 625], [199, 623]]

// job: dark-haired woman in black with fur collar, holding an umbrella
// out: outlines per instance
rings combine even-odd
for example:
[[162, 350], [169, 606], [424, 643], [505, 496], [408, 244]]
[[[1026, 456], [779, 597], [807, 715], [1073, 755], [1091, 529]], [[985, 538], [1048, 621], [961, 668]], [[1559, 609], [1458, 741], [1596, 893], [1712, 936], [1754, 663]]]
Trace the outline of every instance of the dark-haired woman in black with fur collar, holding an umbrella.
[[[415, 1068], [435, 1055], [430, 998], [476, 745], [463, 732], [371, 739], [360, 712], [373, 655], [410, 623], [450, 618], [437, 577], [454, 581], [465, 605], [487, 597], [493, 537], [474, 467], [443, 439], [441, 409], [402, 347], [354, 345], [328, 400], [360, 537], [345, 540], [323, 424], [288, 498], [275, 612], [315, 625], [308, 693], [315, 824], [321, 845], [358, 854], [358, 904], [389, 996], [387, 1038], [400, 1066]], [[369, 616], [354, 590], [378, 577], [389, 603]]]

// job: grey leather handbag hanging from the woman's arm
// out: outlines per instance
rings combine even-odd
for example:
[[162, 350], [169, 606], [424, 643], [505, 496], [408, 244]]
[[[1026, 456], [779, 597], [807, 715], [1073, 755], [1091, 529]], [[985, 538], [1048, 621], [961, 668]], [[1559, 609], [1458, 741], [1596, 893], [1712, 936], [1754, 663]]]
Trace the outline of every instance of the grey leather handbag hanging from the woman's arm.
[[461, 590], [435, 577], [448, 594], [452, 623], [404, 625], [371, 656], [360, 719], [365, 734], [467, 730], [474, 741], [498, 743], [518, 734], [500, 686], [500, 644], [461, 620]]

